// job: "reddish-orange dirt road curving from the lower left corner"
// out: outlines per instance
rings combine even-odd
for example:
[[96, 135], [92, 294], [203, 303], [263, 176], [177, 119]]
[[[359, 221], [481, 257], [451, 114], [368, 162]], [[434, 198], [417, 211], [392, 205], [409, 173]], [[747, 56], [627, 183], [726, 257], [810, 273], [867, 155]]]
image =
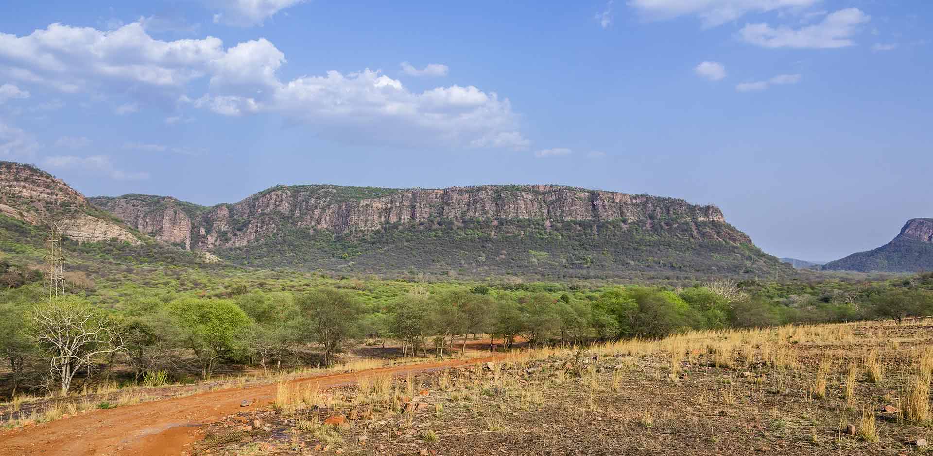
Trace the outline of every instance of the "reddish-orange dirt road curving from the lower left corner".
[[[320, 388], [325, 389], [353, 383], [357, 377], [365, 375], [386, 372], [406, 375], [409, 372], [494, 361], [500, 357], [370, 369], [308, 377], [292, 383], [318, 382]], [[186, 449], [186, 444], [198, 438], [198, 427], [242, 410], [240, 403], [244, 399], [253, 401], [248, 409], [266, 407], [275, 398], [276, 391], [277, 385], [267, 384], [175, 397], [117, 409], [95, 410], [76, 417], [0, 433], [0, 456], [178, 455]]]

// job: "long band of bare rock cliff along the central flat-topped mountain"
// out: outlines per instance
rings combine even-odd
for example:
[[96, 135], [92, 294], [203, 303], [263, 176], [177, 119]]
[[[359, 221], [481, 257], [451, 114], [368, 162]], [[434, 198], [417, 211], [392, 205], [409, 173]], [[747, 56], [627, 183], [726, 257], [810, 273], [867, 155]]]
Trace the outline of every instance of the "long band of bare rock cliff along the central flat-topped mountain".
[[[273, 187], [235, 204], [194, 207], [170, 197], [123, 195], [91, 202], [146, 234], [189, 249], [244, 247], [285, 229], [337, 235], [365, 234], [396, 224], [438, 225], [466, 221], [531, 220], [550, 228], [562, 221], [621, 221], [663, 230], [689, 225], [697, 239], [741, 244], [751, 240], [725, 225], [715, 206], [644, 194], [620, 194], [556, 185], [372, 189], [307, 185]], [[188, 205], [183, 208], [182, 205]], [[187, 210], [185, 210], [187, 208]]]

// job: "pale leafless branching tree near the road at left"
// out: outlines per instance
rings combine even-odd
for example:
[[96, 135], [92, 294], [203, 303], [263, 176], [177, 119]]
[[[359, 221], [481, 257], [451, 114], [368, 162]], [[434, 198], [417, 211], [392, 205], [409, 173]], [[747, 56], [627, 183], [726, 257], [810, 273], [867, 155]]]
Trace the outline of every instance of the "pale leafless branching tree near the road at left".
[[90, 367], [98, 356], [124, 349], [118, 325], [75, 297], [36, 305], [30, 329], [49, 356], [49, 374], [60, 383], [62, 396], [79, 369]]

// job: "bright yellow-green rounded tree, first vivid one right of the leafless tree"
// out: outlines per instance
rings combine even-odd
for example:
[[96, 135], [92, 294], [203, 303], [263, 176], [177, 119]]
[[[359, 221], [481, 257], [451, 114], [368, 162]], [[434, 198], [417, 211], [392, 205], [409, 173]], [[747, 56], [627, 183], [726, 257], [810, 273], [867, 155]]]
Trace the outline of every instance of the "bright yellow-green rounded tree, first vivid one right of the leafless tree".
[[252, 324], [230, 300], [182, 298], [170, 302], [168, 310], [178, 321], [185, 345], [198, 358], [205, 380], [210, 380], [217, 359], [244, 348]]

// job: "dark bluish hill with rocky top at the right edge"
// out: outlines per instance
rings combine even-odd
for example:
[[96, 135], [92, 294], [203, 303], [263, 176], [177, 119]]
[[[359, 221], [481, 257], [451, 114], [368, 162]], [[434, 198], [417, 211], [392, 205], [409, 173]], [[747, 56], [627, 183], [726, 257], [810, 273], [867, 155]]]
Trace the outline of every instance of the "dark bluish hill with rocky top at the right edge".
[[933, 219], [912, 219], [880, 248], [828, 262], [823, 269], [888, 273], [933, 271]]

